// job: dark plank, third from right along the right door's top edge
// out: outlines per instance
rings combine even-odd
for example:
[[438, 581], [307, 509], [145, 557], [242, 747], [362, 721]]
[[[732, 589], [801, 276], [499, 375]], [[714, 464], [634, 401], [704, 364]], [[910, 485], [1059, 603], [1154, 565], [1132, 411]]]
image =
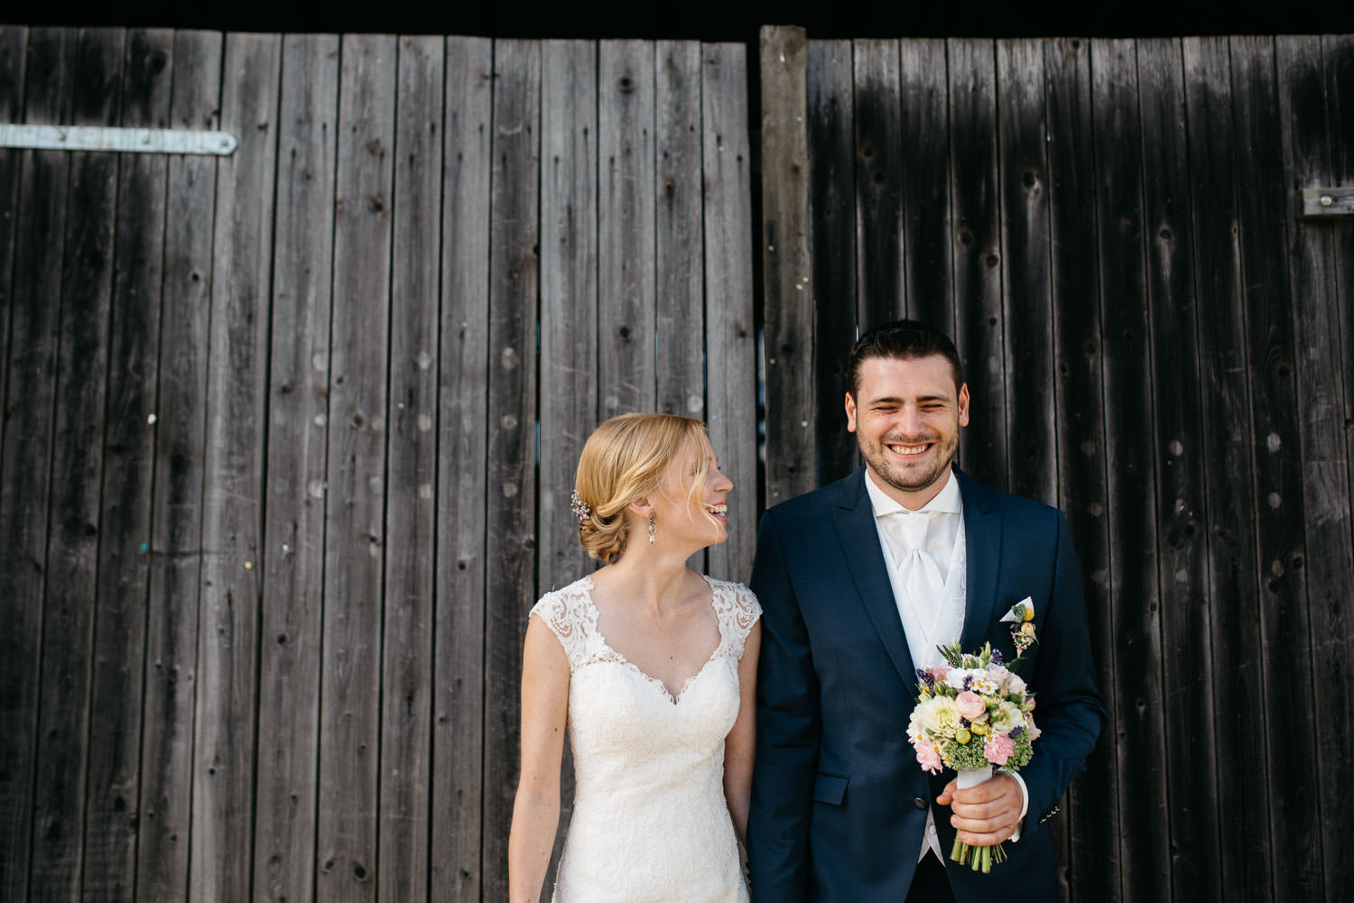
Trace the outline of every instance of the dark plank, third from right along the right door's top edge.
[[1293, 299], [1284, 276], [1286, 236], [1278, 226], [1292, 208], [1292, 194], [1284, 183], [1273, 39], [1233, 38], [1231, 69], [1261, 583], [1261, 648], [1251, 651], [1265, 676], [1266, 755], [1284, 764], [1269, 781], [1273, 899], [1289, 900], [1322, 894], [1320, 814], [1311, 791], [1319, 713], [1312, 700]]

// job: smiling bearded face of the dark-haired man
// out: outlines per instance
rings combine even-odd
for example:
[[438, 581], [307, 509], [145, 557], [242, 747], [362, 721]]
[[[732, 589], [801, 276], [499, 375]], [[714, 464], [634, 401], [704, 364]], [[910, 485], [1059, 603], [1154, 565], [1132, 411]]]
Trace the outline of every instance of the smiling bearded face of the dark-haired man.
[[857, 391], [846, 393], [846, 429], [875, 483], [910, 509], [945, 485], [959, 428], [968, 425], [968, 386], [955, 384], [949, 361], [929, 357], [869, 357]]

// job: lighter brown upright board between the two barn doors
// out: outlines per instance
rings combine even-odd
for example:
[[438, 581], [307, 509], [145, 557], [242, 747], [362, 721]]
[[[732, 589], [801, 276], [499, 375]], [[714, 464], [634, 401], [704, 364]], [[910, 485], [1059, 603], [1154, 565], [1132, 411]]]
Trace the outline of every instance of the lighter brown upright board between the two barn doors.
[[804, 30], [761, 30], [762, 356], [766, 380], [766, 505], [815, 487], [815, 398]]

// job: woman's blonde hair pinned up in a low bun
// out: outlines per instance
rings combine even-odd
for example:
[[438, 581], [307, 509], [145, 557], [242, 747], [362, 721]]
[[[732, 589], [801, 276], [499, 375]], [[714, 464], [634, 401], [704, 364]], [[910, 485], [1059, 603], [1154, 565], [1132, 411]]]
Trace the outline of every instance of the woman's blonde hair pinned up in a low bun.
[[[574, 487], [592, 509], [578, 523], [578, 542], [600, 562], [626, 551], [626, 508], [658, 489], [663, 471], [691, 443], [708, 441], [705, 424], [676, 414], [621, 414], [593, 431], [578, 456]], [[709, 472], [696, 455], [691, 497], [700, 498]], [[709, 517], [709, 514], [705, 514]]]

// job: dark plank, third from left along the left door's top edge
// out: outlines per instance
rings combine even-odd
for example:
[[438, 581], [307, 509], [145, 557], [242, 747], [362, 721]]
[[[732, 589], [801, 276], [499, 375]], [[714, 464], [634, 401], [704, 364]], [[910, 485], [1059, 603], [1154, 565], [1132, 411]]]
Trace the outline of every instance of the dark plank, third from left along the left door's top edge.
[[[80, 32], [76, 125], [116, 125], [122, 43], [121, 30]], [[88, 730], [116, 173], [115, 154], [70, 156], [34, 777], [31, 894], [41, 899], [80, 895], [88, 759], [102, 753], [88, 746]]]

